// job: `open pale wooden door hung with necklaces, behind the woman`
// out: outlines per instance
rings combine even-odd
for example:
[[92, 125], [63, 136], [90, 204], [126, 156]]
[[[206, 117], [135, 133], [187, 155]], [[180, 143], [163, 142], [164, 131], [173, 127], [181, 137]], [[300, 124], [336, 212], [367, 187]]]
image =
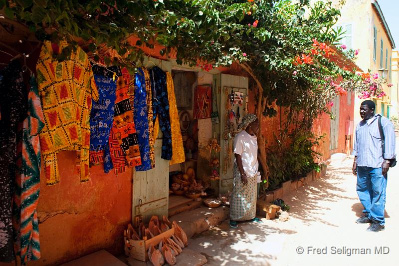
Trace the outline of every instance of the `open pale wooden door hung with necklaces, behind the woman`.
[[[241, 92], [244, 94], [244, 102], [242, 106], [239, 107], [240, 117], [242, 118], [244, 113], [244, 108], [246, 104], [246, 95], [248, 91], [248, 78], [241, 76], [233, 76], [227, 74], [220, 74], [215, 76], [216, 87], [217, 87], [217, 101], [218, 101], [218, 111], [220, 123], [215, 126], [218, 127], [215, 131], [219, 133], [220, 136], [220, 182], [219, 182], [219, 193], [225, 193], [232, 190], [233, 186], [233, 163], [234, 163], [234, 153], [231, 153], [230, 162], [227, 163], [226, 171], [223, 171], [223, 166], [226, 160], [226, 149], [228, 148], [228, 142], [223, 139], [224, 127], [226, 124], [226, 101], [228, 100], [225, 96], [225, 90], [228, 88], [228, 93], [233, 91]], [[233, 111], [237, 112], [238, 104], [233, 105]], [[233, 141], [233, 139], [231, 139]]]

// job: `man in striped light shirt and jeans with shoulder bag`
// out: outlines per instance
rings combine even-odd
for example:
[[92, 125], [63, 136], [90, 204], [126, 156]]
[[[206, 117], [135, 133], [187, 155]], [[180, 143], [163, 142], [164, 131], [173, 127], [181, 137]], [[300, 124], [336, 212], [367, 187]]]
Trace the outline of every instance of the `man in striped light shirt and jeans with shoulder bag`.
[[364, 210], [358, 224], [371, 224], [367, 231], [379, 232], [385, 229], [385, 200], [389, 159], [395, 158], [395, 130], [385, 117], [381, 124], [385, 135], [385, 151], [382, 151], [382, 136], [378, 126], [380, 115], [375, 115], [376, 104], [371, 100], [361, 103], [360, 116], [363, 120], [355, 131], [355, 145], [352, 172], [358, 177], [356, 190]]

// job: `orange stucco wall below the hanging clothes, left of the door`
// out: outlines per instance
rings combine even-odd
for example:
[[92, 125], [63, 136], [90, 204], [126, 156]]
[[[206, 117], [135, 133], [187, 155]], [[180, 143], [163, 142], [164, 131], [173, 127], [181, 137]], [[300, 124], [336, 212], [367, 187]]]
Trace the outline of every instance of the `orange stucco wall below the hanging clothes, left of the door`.
[[41, 259], [32, 266], [55, 265], [106, 249], [123, 252], [123, 230], [132, 216], [132, 172], [115, 176], [103, 167], [90, 169], [91, 179], [80, 183], [75, 173], [75, 152], [58, 154], [60, 183], [40, 184]]

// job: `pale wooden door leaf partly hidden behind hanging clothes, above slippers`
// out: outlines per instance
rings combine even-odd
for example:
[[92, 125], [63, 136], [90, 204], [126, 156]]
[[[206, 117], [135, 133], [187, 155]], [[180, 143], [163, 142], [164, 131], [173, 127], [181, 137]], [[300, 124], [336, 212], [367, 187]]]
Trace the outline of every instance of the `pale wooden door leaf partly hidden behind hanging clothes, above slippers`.
[[[152, 68], [158, 66], [164, 71], [171, 72], [172, 65], [168, 61], [155, 58], [145, 58], [144, 66]], [[141, 204], [140, 213], [143, 222], [148, 223], [151, 216], [168, 216], [169, 204], [169, 161], [161, 158], [162, 132], [159, 130], [154, 145], [155, 168], [137, 172], [133, 171], [133, 199], [132, 199], [132, 221], [137, 215], [138, 206]], [[140, 201], [141, 200], [141, 201]]]

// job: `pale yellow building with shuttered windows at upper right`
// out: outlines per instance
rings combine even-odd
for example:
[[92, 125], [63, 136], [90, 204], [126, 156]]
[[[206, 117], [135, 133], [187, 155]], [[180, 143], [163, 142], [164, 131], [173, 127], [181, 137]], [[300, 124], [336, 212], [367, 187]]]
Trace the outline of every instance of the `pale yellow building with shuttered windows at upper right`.
[[[338, 4], [339, 0], [333, 2]], [[341, 8], [341, 17], [336, 25], [346, 31], [341, 42], [348, 48], [359, 49], [356, 64], [364, 71], [370, 69], [372, 73], [379, 73], [387, 79], [383, 84], [387, 95], [382, 99], [372, 98], [377, 104], [376, 113], [387, 117], [397, 114], [397, 104], [393, 102], [398, 102], [398, 93], [393, 93], [394, 86], [388, 86], [394, 84], [392, 64], [395, 42], [378, 1], [347, 0]], [[355, 97], [355, 125], [361, 120], [358, 110], [363, 100]]]

